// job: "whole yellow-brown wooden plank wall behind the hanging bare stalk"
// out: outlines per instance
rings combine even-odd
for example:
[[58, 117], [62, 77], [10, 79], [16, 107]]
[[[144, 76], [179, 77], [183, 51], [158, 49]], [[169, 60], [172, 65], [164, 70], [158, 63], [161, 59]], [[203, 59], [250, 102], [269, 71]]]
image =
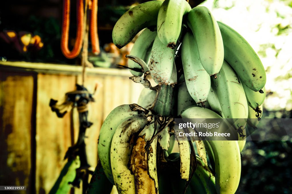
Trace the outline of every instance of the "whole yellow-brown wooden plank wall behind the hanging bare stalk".
[[[84, 85], [89, 91], [98, 84], [95, 102], [88, 107], [93, 125], [86, 131], [92, 170], [97, 164], [99, 129], [107, 114], [118, 105], [137, 103], [142, 85], [128, 77], [86, 77]], [[77, 140], [79, 128], [76, 110], [60, 119], [51, 112], [49, 100], [62, 101], [66, 92], [82, 83], [81, 76], [1, 70], [0, 78], [0, 185], [28, 186], [26, 192], [15, 193], [48, 193], [66, 163], [65, 152]], [[75, 193], [82, 193], [82, 189], [75, 189]]]

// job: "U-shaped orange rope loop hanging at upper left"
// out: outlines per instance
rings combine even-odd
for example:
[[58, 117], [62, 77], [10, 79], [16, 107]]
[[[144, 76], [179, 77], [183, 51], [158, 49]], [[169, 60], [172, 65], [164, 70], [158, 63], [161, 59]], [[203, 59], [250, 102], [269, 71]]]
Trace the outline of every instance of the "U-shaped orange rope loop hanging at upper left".
[[84, 10], [83, 0], [77, 0], [77, 32], [76, 41], [73, 50], [68, 48], [69, 39], [69, 24], [70, 24], [70, 0], [64, 0], [63, 5], [63, 22], [62, 22], [62, 36], [61, 36], [61, 50], [64, 56], [68, 59], [77, 57], [82, 47], [82, 39], [84, 34]]

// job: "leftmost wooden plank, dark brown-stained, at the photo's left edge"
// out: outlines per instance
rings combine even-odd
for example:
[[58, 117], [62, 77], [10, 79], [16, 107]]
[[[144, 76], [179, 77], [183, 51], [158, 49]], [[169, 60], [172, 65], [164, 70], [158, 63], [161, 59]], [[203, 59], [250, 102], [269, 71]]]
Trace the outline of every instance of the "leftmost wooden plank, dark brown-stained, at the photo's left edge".
[[34, 190], [34, 78], [29, 73], [0, 71], [0, 185]]

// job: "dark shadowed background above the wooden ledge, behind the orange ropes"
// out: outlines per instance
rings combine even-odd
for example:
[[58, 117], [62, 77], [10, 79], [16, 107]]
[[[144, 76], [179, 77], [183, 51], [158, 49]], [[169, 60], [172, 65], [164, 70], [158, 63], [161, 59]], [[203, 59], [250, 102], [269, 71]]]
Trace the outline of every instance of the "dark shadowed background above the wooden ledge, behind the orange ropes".
[[[192, 7], [204, 0], [189, 1]], [[98, 34], [101, 48], [112, 42], [112, 28], [119, 17], [133, 3], [145, 0], [98, 1]], [[66, 59], [60, 49], [62, 0], [15, 0], [3, 1], [0, 6], [0, 32], [3, 30], [27, 31], [39, 35], [44, 47], [38, 52], [19, 53], [13, 45], [0, 40], [0, 57], [9, 61], [24, 60], [32, 62], [78, 64], [78, 59]], [[72, 49], [76, 36], [76, 0], [71, 0], [69, 48]], [[91, 42], [89, 38], [89, 52]]]

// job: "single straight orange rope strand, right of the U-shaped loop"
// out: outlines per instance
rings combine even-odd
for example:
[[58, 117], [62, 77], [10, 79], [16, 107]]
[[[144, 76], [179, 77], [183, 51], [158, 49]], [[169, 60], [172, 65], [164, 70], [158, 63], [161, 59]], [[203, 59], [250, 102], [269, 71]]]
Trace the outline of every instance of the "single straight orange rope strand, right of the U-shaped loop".
[[97, 33], [97, 4], [98, 0], [92, 0], [91, 18], [90, 18], [90, 36], [93, 54], [99, 54], [99, 41]]

